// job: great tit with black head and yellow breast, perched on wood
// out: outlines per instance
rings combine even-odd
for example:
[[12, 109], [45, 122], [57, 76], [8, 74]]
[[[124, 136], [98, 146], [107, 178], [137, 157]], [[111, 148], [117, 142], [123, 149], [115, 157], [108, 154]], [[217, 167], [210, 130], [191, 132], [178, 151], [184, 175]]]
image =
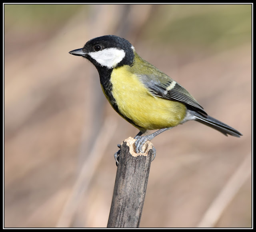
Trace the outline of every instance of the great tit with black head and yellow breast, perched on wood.
[[[185, 88], [143, 60], [124, 38], [100, 36], [69, 53], [94, 64], [111, 106], [140, 130], [134, 137], [136, 153], [142, 152], [146, 141], [188, 120], [196, 120], [226, 136], [242, 136], [234, 128], [208, 116]], [[156, 129], [156, 132], [142, 136], [147, 130]]]

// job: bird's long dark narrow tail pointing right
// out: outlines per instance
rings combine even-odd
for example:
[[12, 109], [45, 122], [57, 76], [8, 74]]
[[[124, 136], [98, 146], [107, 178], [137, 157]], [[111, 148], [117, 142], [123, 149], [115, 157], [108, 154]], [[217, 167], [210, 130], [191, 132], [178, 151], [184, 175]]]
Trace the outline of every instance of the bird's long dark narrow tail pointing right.
[[227, 124], [224, 124], [223, 122], [220, 122], [219, 120], [212, 118], [211, 116], [202, 116], [201, 114], [195, 112], [194, 116], [196, 116], [196, 121], [206, 125], [210, 126], [211, 128], [214, 128], [215, 130], [218, 130], [222, 134], [228, 136], [232, 135], [235, 137], [240, 137], [242, 134], [232, 128], [231, 126], [228, 126]]

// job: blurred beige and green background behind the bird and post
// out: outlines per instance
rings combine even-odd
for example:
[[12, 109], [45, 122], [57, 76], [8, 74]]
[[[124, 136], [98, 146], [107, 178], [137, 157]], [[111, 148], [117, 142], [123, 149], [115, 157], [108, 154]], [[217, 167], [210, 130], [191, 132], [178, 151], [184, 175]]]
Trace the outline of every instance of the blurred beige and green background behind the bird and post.
[[116, 145], [138, 130], [68, 52], [107, 34], [243, 134], [190, 121], [154, 138], [140, 227], [251, 227], [250, 4], [5, 4], [4, 226], [106, 227]]

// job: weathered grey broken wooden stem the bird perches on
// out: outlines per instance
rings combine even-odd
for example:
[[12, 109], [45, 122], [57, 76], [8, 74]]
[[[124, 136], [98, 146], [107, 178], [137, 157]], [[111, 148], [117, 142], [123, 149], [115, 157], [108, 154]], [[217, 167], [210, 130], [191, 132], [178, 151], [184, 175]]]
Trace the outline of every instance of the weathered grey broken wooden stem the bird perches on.
[[139, 227], [151, 158], [152, 147], [147, 156], [134, 157], [129, 152], [129, 146], [123, 142], [120, 149], [108, 228]]

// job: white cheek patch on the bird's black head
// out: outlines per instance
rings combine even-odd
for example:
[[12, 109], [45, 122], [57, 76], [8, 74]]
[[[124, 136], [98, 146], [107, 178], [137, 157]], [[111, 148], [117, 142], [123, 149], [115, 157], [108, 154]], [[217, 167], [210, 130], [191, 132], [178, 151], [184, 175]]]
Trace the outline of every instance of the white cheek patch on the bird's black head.
[[114, 68], [125, 56], [124, 50], [117, 48], [106, 48], [98, 52], [89, 52], [88, 55], [100, 65]]

